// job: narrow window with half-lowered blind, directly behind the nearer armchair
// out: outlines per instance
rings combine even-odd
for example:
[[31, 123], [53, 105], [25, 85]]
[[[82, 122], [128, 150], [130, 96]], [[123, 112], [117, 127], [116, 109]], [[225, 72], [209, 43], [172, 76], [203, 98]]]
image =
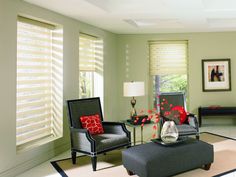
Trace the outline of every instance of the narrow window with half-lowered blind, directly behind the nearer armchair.
[[103, 40], [80, 33], [79, 97], [100, 97], [103, 102]]

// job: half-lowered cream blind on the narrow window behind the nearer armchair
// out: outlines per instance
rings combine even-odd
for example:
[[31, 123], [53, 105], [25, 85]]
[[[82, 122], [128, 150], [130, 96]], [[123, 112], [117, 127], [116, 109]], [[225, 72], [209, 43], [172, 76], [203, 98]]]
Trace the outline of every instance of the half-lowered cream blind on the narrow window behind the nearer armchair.
[[103, 72], [103, 40], [80, 33], [79, 70]]

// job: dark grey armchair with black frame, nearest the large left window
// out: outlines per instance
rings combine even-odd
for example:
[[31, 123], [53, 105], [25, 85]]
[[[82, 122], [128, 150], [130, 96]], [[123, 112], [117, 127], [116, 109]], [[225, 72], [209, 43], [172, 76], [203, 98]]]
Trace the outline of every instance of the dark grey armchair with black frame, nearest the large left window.
[[[103, 121], [99, 98], [68, 100], [72, 163], [76, 163], [76, 152], [91, 156], [93, 171], [96, 171], [97, 155], [131, 145], [130, 132], [123, 123]], [[104, 133], [91, 135], [83, 129], [80, 117], [98, 114]]]

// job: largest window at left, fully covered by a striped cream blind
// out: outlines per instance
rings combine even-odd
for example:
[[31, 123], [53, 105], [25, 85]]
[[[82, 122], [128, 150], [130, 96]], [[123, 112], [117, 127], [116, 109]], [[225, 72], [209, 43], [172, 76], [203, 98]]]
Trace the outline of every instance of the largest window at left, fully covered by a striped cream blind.
[[21, 150], [62, 136], [62, 29], [18, 17], [16, 145]]

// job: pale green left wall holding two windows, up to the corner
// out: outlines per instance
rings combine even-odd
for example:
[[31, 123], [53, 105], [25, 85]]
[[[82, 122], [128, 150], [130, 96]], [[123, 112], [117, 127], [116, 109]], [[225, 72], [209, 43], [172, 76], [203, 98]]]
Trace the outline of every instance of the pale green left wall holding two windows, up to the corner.
[[[17, 15], [27, 15], [63, 26], [64, 132], [63, 137], [40, 147], [16, 152], [16, 34]], [[0, 0], [0, 176], [15, 176], [26, 169], [69, 149], [68, 120], [65, 101], [78, 98], [79, 32], [104, 40], [104, 115], [117, 119], [116, 35], [81, 23], [58, 13], [21, 0]]]

